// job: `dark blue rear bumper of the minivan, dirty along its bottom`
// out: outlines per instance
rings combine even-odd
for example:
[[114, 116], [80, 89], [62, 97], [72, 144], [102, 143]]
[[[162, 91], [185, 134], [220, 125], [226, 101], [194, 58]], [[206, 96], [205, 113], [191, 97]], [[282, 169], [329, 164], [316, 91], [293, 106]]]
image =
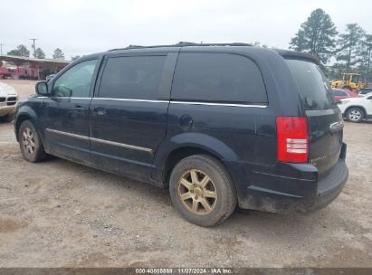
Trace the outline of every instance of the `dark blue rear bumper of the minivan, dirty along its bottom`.
[[348, 181], [345, 156], [344, 144], [338, 162], [322, 175], [310, 164], [279, 164], [274, 171], [253, 168], [245, 175], [250, 185], [235, 180], [239, 206], [272, 213], [309, 212], [324, 207]]

